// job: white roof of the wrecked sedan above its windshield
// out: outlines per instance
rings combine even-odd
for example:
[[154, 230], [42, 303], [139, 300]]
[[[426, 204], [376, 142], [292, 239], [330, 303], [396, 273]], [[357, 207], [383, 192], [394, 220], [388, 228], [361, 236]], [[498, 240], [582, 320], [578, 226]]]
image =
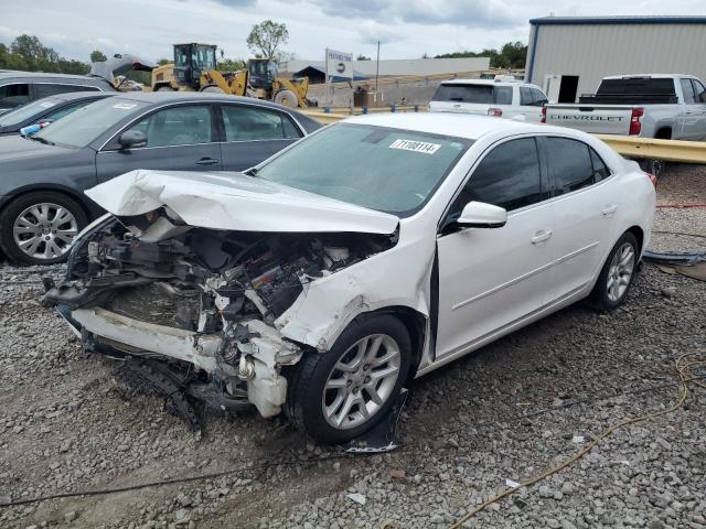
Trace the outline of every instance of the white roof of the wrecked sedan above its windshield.
[[512, 119], [500, 119], [490, 116], [473, 116], [453, 112], [385, 112], [356, 116], [344, 122], [372, 125], [375, 127], [391, 127], [395, 129], [427, 132], [430, 134], [451, 136], [478, 140], [494, 132], [505, 132], [507, 136], [522, 133], [558, 133], [584, 138], [584, 132], [566, 127], [527, 123]]

